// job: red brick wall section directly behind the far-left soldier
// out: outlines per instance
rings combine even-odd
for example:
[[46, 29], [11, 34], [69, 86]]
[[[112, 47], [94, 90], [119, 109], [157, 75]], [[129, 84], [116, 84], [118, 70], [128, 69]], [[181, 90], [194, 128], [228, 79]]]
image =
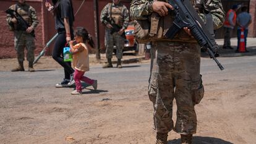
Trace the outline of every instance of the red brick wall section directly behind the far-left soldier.
[[[16, 52], [14, 49], [14, 34], [9, 31], [9, 27], [6, 22], [6, 9], [9, 8], [12, 4], [15, 4], [16, 1], [1, 1], [0, 5], [0, 58], [10, 58], [16, 57]], [[41, 1], [28, 1], [28, 4], [33, 6], [36, 9], [38, 19], [40, 23], [38, 27], [35, 29], [36, 34], [36, 49], [35, 53], [40, 53], [43, 48], [44, 41], [44, 33], [42, 26], [42, 11], [41, 11]]]

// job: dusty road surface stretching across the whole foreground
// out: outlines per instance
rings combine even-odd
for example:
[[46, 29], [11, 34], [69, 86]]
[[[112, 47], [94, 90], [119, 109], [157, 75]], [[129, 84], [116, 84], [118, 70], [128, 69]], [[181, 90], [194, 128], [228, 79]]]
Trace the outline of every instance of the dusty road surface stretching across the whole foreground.
[[[194, 143], [254, 143], [256, 56], [220, 57], [225, 70], [202, 58], [205, 97], [197, 106]], [[98, 90], [82, 96], [73, 88], [54, 88], [57, 70], [0, 72], [0, 137], [3, 143], [153, 143], [153, 108], [147, 96], [149, 64], [125, 64], [123, 69], [91, 67]], [[111, 99], [112, 101], [103, 101]], [[176, 108], [174, 107], [174, 111]], [[175, 119], [175, 114], [174, 114]], [[174, 140], [171, 140], [174, 138]], [[169, 143], [177, 144], [171, 132]]]

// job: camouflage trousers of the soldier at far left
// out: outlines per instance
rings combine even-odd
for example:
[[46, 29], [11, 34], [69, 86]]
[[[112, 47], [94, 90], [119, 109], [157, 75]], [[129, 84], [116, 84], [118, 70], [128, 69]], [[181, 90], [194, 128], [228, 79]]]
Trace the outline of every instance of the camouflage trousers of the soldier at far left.
[[34, 61], [35, 38], [32, 35], [22, 31], [15, 31], [14, 47], [17, 51], [18, 61], [24, 61], [25, 48], [27, 49], [27, 61]]

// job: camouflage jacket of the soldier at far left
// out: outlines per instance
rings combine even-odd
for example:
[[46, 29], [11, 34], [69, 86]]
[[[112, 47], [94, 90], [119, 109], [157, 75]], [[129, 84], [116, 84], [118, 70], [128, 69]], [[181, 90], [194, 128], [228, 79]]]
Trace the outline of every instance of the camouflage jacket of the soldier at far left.
[[[12, 9], [15, 11], [16, 7], [17, 7], [17, 12], [22, 16], [22, 18], [26, 20], [26, 22], [28, 22], [28, 24], [35, 29], [39, 23], [39, 20], [36, 17], [35, 9], [26, 3], [20, 4], [19, 2], [9, 7], [9, 9]], [[11, 20], [12, 20], [11, 15], [7, 14], [7, 17], [6, 17], [7, 24], [11, 27], [11, 30], [14, 30], [16, 26], [14, 25], [14, 23], [12, 23]]]

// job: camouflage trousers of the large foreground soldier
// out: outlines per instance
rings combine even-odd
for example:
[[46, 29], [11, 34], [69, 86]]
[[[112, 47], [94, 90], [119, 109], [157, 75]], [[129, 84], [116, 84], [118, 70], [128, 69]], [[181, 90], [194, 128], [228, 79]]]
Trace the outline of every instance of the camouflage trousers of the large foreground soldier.
[[[153, 49], [152, 49], [153, 48]], [[154, 106], [154, 130], [192, 134], [197, 129], [195, 104], [203, 98], [200, 47], [196, 43], [155, 42], [151, 46], [148, 95]], [[154, 56], [155, 53], [155, 56]], [[177, 104], [174, 127], [173, 100]]]

